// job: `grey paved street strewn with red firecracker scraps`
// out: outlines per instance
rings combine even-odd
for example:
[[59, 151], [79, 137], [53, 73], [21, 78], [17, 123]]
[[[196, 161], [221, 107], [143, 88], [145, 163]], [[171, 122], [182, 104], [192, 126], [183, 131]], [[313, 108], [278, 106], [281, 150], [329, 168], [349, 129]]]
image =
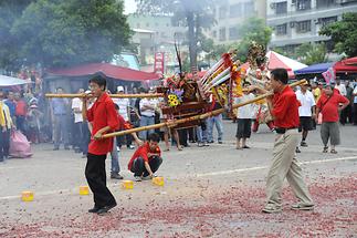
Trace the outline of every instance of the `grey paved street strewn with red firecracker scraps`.
[[[274, 141], [265, 125], [250, 149], [235, 149], [235, 124], [225, 121], [222, 145], [165, 152], [157, 173], [164, 187], [141, 182], [124, 190], [108, 180], [118, 206], [105, 216], [87, 214], [92, 195], [78, 195], [85, 158], [35, 145], [32, 158], [0, 164], [0, 237], [357, 237], [357, 126], [340, 130], [338, 154], [322, 153], [319, 130], [297, 154], [314, 211], [290, 209], [296, 200], [286, 183], [284, 210], [274, 215], [261, 213]], [[120, 152], [125, 179], [133, 179], [133, 152]], [[21, 201], [23, 190], [34, 192], [34, 200]]]

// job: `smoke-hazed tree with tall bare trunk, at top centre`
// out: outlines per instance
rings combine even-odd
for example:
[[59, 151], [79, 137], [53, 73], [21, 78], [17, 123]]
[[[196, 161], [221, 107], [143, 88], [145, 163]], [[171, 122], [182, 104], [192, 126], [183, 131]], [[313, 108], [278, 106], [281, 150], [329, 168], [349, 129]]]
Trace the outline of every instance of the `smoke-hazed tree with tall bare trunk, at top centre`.
[[197, 68], [198, 42], [201, 30], [214, 23], [213, 0], [136, 0], [139, 13], [168, 14], [188, 28], [190, 65]]

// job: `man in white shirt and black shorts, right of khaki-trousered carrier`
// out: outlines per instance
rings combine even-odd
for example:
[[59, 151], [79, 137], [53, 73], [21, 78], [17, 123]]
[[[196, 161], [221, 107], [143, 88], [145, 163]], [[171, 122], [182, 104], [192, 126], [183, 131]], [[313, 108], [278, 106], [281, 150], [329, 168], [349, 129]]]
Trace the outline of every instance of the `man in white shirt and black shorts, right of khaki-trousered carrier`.
[[[301, 146], [307, 147], [305, 142], [308, 131], [313, 130], [313, 117], [315, 117], [315, 97], [311, 91], [307, 90], [308, 85], [302, 85], [301, 90], [296, 91], [296, 99], [302, 104], [298, 107], [300, 116], [300, 132], [303, 132]], [[298, 147], [296, 147], [296, 153], [300, 153]]]

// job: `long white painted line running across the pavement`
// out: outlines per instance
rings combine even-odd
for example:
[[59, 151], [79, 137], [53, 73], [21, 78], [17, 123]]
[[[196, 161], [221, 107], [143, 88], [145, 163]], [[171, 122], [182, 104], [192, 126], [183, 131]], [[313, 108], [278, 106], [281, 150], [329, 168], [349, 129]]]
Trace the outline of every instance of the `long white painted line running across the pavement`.
[[[348, 156], [348, 157], [339, 157], [339, 158], [329, 158], [329, 159], [317, 159], [317, 161], [311, 161], [311, 162], [300, 162], [300, 165], [308, 165], [308, 164], [323, 164], [323, 163], [329, 163], [329, 162], [343, 162], [343, 161], [353, 161], [357, 159], [357, 156]], [[204, 174], [196, 174], [192, 175], [192, 177], [207, 177], [207, 176], [217, 176], [217, 175], [228, 175], [228, 174], [235, 174], [235, 173], [242, 173], [242, 172], [252, 172], [252, 170], [261, 170], [266, 169], [269, 166], [256, 166], [256, 167], [250, 167], [250, 168], [238, 168], [238, 169], [230, 169], [230, 170], [221, 170], [221, 172], [211, 172], [211, 173], [204, 173]], [[174, 178], [171, 178], [174, 179]], [[117, 184], [111, 184], [108, 187], [118, 186]], [[78, 187], [73, 189], [59, 189], [59, 190], [48, 190], [48, 192], [39, 192], [36, 193], [34, 190], [35, 197], [39, 196], [48, 196], [48, 195], [54, 195], [54, 194], [75, 194], [78, 193]], [[80, 195], [78, 195], [80, 196]], [[20, 199], [20, 195], [17, 196], [4, 196], [0, 197], [0, 200], [11, 200], [11, 199]]]

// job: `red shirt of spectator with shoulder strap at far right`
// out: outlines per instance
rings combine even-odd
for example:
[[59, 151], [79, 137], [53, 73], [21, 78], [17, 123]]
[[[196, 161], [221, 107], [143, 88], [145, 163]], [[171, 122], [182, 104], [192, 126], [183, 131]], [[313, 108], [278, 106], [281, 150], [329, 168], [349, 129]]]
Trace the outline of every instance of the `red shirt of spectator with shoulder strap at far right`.
[[339, 103], [348, 103], [349, 101], [334, 91], [333, 95], [328, 100], [328, 96], [323, 93], [323, 95], [317, 101], [317, 107], [323, 114], [323, 122], [338, 122], [338, 106]]

